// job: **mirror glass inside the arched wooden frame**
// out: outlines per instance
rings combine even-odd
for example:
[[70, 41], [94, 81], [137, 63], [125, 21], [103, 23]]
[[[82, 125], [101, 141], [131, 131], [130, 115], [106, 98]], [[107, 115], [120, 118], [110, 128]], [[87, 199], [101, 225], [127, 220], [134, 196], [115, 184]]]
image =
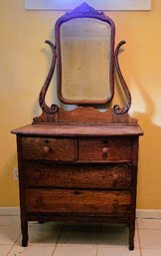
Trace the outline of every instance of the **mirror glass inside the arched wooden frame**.
[[72, 104], [106, 103], [110, 97], [110, 35], [108, 23], [74, 18], [62, 23], [62, 101]]

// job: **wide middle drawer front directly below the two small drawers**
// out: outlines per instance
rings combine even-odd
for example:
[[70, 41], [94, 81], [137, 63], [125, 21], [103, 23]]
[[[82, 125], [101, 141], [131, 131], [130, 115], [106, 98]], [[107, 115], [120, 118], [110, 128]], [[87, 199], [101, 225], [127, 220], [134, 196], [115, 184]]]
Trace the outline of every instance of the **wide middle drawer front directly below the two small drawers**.
[[27, 186], [115, 188], [131, 186], [130, 164], [24, 163]]

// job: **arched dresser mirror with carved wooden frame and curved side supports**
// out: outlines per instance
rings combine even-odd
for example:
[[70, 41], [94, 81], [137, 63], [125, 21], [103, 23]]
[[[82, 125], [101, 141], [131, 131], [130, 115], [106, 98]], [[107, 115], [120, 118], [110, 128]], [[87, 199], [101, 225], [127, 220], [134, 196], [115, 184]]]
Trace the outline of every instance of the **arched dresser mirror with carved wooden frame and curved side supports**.
[[52, 50], [52, 63], [39, 97], [43, 114], [34, 119], [34, 124], [58, 122], [58, 116], [66, 113], [55, 104], [51, 107], [46, 104], [46, 94], [56, 70], [58, 98], [64, 104], [79, 106], [75, 114], [80, 110], [88, 113], [91, 109], [89, 106], [92, 109], [100, 105], [111, 106], [116, 71], [125, 103], [121, 108], [119, 105], [107, 108], [106, 112], [115, 116], [123, 116], [128, 112], [131, 96], [118, 63], [119, 50], [125, 41], [121, 41], [115, 48], [114, 39], [113, 21], [86, 3], [58, 19], [55, 25], [55, 44], [46, 41]]

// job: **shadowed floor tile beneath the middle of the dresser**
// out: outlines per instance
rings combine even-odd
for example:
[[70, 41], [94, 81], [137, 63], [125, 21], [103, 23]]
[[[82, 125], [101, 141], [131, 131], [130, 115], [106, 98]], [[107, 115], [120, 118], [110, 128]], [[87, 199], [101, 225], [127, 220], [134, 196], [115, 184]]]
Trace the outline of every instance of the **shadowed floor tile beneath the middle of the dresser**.
[[61, 234], [59, 246], [93, 246], [98, 243], [98, 225], [68, 224]]

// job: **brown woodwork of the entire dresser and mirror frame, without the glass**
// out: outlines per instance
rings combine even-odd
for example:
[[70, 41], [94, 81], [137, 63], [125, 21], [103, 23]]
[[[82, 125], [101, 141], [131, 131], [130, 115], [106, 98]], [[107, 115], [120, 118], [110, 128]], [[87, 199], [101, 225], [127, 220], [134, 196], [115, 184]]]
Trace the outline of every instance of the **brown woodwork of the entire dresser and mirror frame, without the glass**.
[[[52, 80], [56, 59], [58, 97], [61, 89], [60, 26], [73, 17], [91, 17], [110, 26], [109, 84], [114, 95], [114, 66], [120, 80], [125, 106], [115, 105], [99, 112], [84, 106], [66, 111], [57, 105], [48, 107], [45, 98]], [[32, 125], [16, 128], [22, 245], [28, 245], [28, 221], [77, 221], [126, 223], [129, 249], [134, 249], [138, 138], [143, 134], [137, 120], [128, 116], [131, 96], [114, 52], [114, 24], [102, 12], [83, 3], [65, 14], [56, 24], [56, 45], [52, 49], [51, 69], [41, 90], [42, 115]], [[96, 102], [94, 104], [102, 104]], [[104, 104], [104, 103], [103, 103]]]

